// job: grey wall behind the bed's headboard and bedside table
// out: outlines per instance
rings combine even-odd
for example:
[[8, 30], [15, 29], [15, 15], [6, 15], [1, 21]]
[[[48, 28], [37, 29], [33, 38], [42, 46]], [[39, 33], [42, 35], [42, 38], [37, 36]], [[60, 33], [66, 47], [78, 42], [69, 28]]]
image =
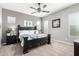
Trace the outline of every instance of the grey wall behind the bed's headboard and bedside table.
[[24, 20], [31, 20], [33, 22], [33, 26], [35, 26], [36, 22], [40, 20], [40, 18], [35, 16], [31, 16], [31, 15], [27, 15], [27, 14], [15, 12], [15, 11], [7, 10], [7, 9], [2, 9], [2, 35], [3, 35], [2, 42], [3, 43], [6, 42], [6, 34], [5, 34], [6, 27], [7, 25], [10, 25], [10, 24], [7, 24], [7, 16], [16, 17], [15, 26], [17, 26], [18, 24], [21, 26], [24, 26]]

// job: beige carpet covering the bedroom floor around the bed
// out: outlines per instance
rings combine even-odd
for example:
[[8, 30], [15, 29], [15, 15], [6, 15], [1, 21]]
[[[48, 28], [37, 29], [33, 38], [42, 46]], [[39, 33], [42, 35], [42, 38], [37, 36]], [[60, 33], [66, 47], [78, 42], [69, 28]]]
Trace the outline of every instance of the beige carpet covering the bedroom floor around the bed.
[[34, 49], [28, 53], [22, 53], [20, 44], [11, 44], [0, 48], [0, 56], [73, 56], [73, 45], [67, 45], [60, 42], [52, 42]]

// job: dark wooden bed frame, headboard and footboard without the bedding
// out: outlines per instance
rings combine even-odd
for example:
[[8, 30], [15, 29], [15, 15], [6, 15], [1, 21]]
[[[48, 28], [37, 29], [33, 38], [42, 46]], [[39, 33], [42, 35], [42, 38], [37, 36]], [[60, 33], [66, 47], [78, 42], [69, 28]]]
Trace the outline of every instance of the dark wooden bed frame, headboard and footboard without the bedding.
[[[17, 36], [19, 40], [19, 30], [36, 30], [35, 27], [21, 27], [20, 25], [17, 26]], [[23, 53], [28, 53], [29, 49], [38, 47], [44, 44], [51, 44], [50, 40], [50, 34], [48, 34], [47, 37], [43, 38], [36, 38], [33, 40], [27, 40], [28, 37], [24, 37], [24, 46], [23, 46]]]

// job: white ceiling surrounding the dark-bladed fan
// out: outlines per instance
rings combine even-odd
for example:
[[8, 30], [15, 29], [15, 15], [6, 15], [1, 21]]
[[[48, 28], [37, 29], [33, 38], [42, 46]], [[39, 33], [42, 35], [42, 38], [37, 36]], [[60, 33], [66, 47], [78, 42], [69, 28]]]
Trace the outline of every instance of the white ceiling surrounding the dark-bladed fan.
[[44, 17], [58, 10], [61, 10], [61, 9], [64, 9], [66, 7], [73, 5], [73, 3], [43, 3], [43, 4], [47, 5], [47, 7], [44, 8], [44, 10], [48, 10], [50, 11], [50, 13], [41, 12], [40, 14], [39, 13], [31, 14], [32, 12], [35, 12], [35, 10], [31, 9], [30, 6], [37, 8], [38, 5], [36, 3], [0, 3], [0, 6], [2, 8], [6, 8], [9, 10], [13, 10], [13, 11], [18, 11], [21, 13], [25, 13], [25, 14], [29, 14], [29, 15], [33, 15], [37, 17]]

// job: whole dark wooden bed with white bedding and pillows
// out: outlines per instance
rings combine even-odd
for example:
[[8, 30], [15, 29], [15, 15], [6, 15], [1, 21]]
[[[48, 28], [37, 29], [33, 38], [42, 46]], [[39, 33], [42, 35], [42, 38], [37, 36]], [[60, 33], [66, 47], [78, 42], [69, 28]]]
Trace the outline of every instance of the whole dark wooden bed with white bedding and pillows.
[[[31, 34], [30, 34], [31, 33]], [[30, 49], [39, 47], [45, 44], [50, 44], [50, 34], [39, 34], [35, 27], [21, 27], [17, 26], [17, 37], [21, 46], [23, 47], [23, 53], [28, 53]]]

